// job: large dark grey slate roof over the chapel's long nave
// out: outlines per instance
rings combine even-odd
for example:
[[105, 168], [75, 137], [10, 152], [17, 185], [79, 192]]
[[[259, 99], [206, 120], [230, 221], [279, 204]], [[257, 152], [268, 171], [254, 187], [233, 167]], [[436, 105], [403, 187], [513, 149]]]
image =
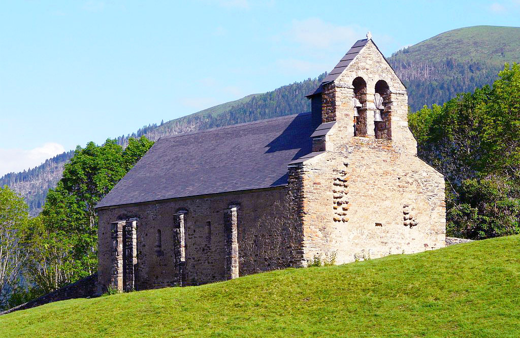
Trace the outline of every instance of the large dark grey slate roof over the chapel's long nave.
[[313, 132], [303, 113], [161, 138], [96, 207], [287, 185]]

